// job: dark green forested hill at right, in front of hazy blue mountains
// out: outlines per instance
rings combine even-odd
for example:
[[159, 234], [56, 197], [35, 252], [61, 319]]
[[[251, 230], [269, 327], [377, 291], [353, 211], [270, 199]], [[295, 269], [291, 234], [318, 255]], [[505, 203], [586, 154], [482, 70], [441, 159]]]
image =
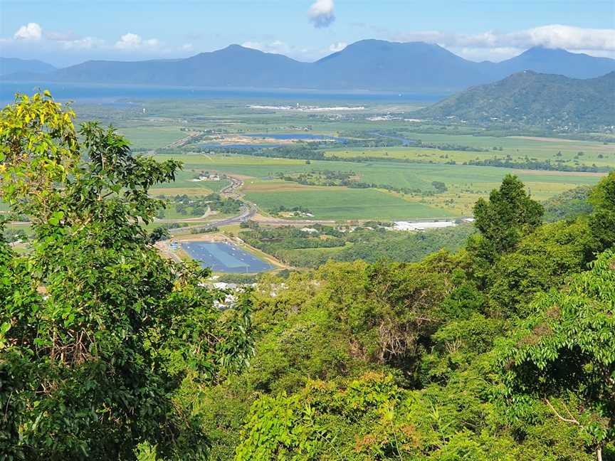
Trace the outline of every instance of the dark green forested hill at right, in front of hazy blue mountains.
[[615, 123], [615, 72], [580, 80], [525, 70], [470, 88], [415, 114], [550, 127], [609, 126]]

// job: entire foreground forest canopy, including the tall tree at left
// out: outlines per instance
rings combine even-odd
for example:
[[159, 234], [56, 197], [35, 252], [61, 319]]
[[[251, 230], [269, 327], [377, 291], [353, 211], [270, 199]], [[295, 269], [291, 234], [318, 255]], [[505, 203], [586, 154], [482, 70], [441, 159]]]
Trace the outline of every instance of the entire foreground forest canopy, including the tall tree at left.
[[214, 308], [162, 258], [180, 165], [51, 95], [0, 115], [0, 459], [615, 458], [615, 173], [543, 223], [515, 176], [456, 253], [266, 275]]

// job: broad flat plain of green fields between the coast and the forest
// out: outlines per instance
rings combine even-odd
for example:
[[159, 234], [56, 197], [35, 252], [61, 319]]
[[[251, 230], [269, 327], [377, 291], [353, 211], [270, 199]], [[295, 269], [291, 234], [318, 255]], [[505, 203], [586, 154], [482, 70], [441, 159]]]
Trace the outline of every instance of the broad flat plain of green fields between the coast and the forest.
[[[191, 181], [204, 171], [218, 171], [243, 179], [245, 184], [240, 192], [248, 200], [254, 201], [261, 210], [278, 206], [303, 206], [320, 219], [466, 216], [471, 214], [473, 203], [497, 187], [505, 174], [519, 176], [532, 196], [539, 200], [579, 185], [595, 184], [600, 177], [599, 174], [580, 172], [471, 166], [463, 165], [464, 162], [497, 157], [525, 164], [528, 161], [550, 161], [552, 165], [561, 165], [562, 168], [615, 166], [615, 144], [559, 137], [485, 136], [484, 128], [410, 122], [405, 117], [412, 117], [411, 112], [424, 105], [420, 102], [357, 99], [327, 101], [310, 97], [300, 101], [302, 105], [354, 107], [353, 110], [337, 113], [251, 107], [288, 106], [295, 102], [275, 96], [248, 101], [145, 100], [131, 102], [125, 107], [80, 105], [77, 112], [82, 120], [95, 119], [119, 127], [120, 132], [137, 149], [158, 149], [157, 159], [174, 158], [184, 162], [184, 171], [177, 174], [176, 181], [156, 186], [151, 191], [154, 195], [204, 195], [220, 191], [228, 184], [227, 181]], [[377, 120], [385, 114], [394, 118]], [[216, 142], [227, 139], [232, 144], [233, 137], [237, 139], [243, 134], [304, 132], [335, 135], [354, 142], [372, 137], [376, 141], [372, 147], [332, 144], [325, 149], [326, 156], [372, 159], [312, 160], [308, 164], [303, 159], [216, 154], [216, 149], [206, 153], [195, 152], [196, 149], [208, 146], [211, 139], [216, 139]], [[190, 140], [183, 147], [172, 147], [174, 142], [191, 133], [204, 134], [205, 137]], [[387, 146], [395, 143], [393, 137], [387, 136], [414, 141], [420, 139], [424, 144], [437, 144], [441, 148]], [[584, 139], [606, 139], [602, 134], [583, 136]], [[488, 150], [475, 152], [467, 149]], [[280, 173], [300, 174], [315, 170], [352, 171], [357, 181], [393, 188], [399, 192], [387, 192], [384, 189], [322, 189], [276, 179]], [[447, 190], [435, 194], [434, 181], [444, 183]], [[401, 194], [402, 189], [406, 194]], [[169, 216], [174, 216], [173, 211], [169, 211]]]

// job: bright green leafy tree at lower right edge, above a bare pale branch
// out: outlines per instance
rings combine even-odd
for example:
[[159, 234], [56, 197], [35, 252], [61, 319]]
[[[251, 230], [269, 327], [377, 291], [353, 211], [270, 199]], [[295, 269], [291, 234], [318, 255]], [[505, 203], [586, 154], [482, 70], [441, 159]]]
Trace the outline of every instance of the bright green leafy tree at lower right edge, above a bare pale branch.
[[599, 460], [615, 440], [614, 300], [615, 253], [606, 251], [569, 287], [536, 300], [500, 351], [513, 418], [531, 418], [542, 403]]

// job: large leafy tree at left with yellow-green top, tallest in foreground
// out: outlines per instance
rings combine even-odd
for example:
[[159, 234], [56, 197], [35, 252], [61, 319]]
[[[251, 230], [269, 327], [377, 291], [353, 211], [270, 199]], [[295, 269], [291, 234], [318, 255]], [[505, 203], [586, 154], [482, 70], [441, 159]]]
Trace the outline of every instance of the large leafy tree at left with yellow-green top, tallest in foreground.
[[0, 241], [0, 452], [130, 460], [147, 443], [201, 457], [204, 436], [172, 398], [187, 376], [243, 367], [250, 304], [219, 312], [209, 270], [152, 246], [144, 224], [162, 202], [148, 191], [179, 163], [133, 156], [111, 127], [77, 132], [73, 117], [48, 92], [0, 113], [1, 198], [33, 230], [26, 255]]

